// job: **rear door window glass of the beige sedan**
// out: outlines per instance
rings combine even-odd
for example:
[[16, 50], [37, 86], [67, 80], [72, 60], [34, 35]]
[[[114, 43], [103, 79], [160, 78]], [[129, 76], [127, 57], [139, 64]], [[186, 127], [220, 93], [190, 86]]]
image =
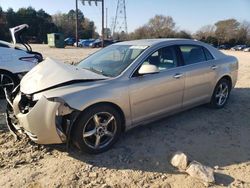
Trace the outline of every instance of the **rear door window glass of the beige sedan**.
[[201, 46], [185, 45], [180, 46], [180, 50], [184, 59], [185, 65], [191, 65], [206, 61], [206, 56]]

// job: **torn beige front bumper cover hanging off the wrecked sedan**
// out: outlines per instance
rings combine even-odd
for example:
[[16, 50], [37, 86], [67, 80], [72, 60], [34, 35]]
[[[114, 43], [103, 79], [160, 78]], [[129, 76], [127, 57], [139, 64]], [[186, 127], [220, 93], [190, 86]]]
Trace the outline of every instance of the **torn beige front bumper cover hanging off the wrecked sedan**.
[[52, 102], [41, 97], [27, 113], [20, 109], [21, 95], [14, 98], [6, 94], [8, 107], [6, 110], [6, 122], [10, 132], [18, 139], [18, 132], [25, 133], [38, 144], [63, 143], [61, 135], [56, 127], [56, 111], [60, 106], [58, 102]]

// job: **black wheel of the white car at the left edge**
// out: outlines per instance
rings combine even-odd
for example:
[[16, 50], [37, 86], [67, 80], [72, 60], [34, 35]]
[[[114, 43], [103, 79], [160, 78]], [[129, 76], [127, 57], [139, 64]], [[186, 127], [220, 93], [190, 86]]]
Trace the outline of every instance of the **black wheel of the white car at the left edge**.
[[8, 92], [12, 92], [19, 82], [20, 80], [16, 75], [0, 70], [0, 98], [5, 97], [4, 88], [7, 88]]

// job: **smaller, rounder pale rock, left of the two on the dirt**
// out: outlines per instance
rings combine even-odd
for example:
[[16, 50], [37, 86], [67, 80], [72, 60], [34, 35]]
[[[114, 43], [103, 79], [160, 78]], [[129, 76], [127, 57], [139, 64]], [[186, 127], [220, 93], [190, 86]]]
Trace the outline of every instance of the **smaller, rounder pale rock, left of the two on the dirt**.
[[188, 158], [183, 152], [176, 152], [171, 159], [171, 164], [181, 171], [186, 170]]

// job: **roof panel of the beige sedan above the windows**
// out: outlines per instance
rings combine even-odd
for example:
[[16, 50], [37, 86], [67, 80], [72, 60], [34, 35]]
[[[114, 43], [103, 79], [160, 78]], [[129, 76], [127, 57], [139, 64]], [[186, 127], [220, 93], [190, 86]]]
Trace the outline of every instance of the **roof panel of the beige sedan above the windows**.
[[179, 39], [179, 38], [162, 38], [162, 39], [141, 39], [141, 40], [132, 40], [116, 43], [116, 45], [139, 45], [139, 46], [154, 46], [162, 42], [187, 42], [195, 41], [193, 39]]

